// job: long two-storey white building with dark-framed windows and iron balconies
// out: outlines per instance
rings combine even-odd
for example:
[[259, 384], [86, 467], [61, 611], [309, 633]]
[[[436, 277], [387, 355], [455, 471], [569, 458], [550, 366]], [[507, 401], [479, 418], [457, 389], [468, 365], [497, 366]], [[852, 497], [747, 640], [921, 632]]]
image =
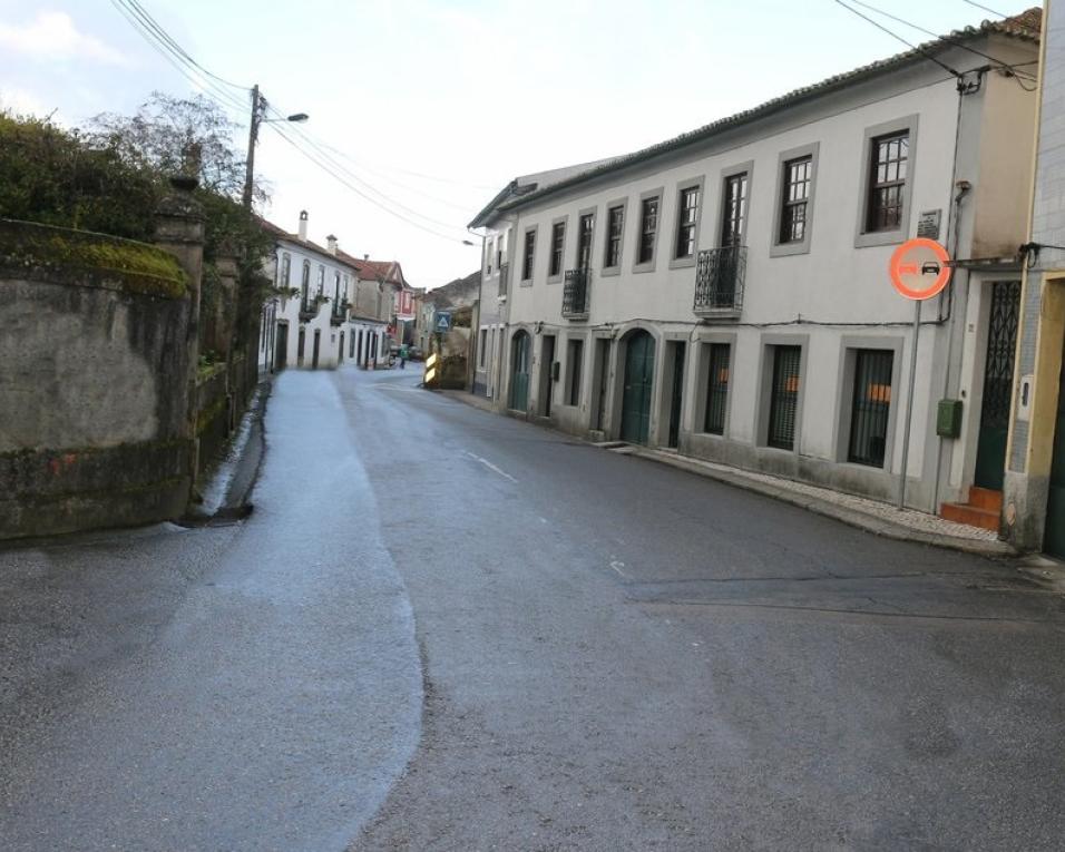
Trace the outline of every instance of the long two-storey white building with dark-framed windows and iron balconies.
[[907, 503], [993, 502], [1037, 52], [1029, 26], [985, 22], [561, 179], [519, 178], [471, 223], [481, 332], [498, 334], [478, 391], [576, 434], [893, 499], [915, 306], [888, 267], [927, 236], [952, 280], [922, 306]]

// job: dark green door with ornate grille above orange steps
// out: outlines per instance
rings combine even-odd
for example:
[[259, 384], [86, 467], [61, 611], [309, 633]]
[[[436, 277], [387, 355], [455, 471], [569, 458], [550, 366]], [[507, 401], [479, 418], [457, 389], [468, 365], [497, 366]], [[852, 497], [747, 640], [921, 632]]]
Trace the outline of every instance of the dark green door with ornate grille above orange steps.
[[980, 432], [974, 476], [974, 483], [978, 488], [991, 491], [1003, 490], [1006, 473], [1006, 437], [1009, 432], [1019, 312], [1020, 282], [995, 282], [991, 285], [984, 398], [980, 402]]

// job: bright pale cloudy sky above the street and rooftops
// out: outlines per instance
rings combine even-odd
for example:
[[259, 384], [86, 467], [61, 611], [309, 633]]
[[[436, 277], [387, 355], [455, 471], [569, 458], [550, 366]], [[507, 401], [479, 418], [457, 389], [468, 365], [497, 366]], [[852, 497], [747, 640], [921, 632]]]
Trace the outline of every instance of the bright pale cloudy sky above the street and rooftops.
[[[154, 90], [203, 90], [117, 2], [0, 0], [0, 107], [77, 127], [135, 112]], [[279, 112], [309, 114], [281, 130], [340, 164], [329, 174], [264, 127], [267, 218], [294, 232], [306, 209], [312, 239], [335, 234], [429, 288], [478, 268], [466, 225], [515, 176], [637, 150], [906, 50], [836, 0], [139, 2], [235, 85], [215, 82], [242, 125], [235, 145], [246, 146], [241, 105], [257, 84]], [[939, 33], [996, 17], [965, 0], [869, 2]], [[1009, 14], [1035, 4], [981, 3]]]

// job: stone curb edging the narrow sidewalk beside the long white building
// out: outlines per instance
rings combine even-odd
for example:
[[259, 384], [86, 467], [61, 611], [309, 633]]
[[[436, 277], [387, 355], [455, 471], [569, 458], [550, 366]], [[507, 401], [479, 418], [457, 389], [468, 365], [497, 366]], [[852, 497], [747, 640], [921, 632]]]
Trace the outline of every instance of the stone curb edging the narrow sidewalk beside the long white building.
[[[491, 408], [468, 399], [471, 396], [471, 394], [468, 392], [436, 392], [449, 399], [462, 402], [470, 408], [475, 408], [480, 411], [487, 411], [488, 413], [492, 414], [496, 413]], [[547, 423], [540, 422], [538, 420], [528, 420], [526, 422], [532, 423], [534, 425], [540, 428], [550, 429], [550, 431], [558, 432], [559, 434], [565, 434], [554, 427], [550, 427]], [[586, 443], [588, 443], [589, 447], [595, 445], [590, 441], [586, 441]], [[790, 503], [791, 506], [798, 506], [800, 509], [807, 509], [815, 515], [821, 515], [825, 518], [832, 518], [833, 520], [842, 521], [851, 527], [857, 527], [858, 529], [866, 530], [867, 532], [871, 532], [876, 536], [893, 539], [896, 541], [912, 541], [920, 545], [939, 547], [946, 550], [957, 550], [963, 554], [971, 554], [973, 556], [983, 556], [990, 559], [1013, 559], [1022, 556], [1020, 551], [1005, 541], [983, 541], [980, 539], [958, 538], [956, 536], [944, 536], [936, 532], [916, 530], [902, 523], [892, 523], [891, 521], [885, 520], [879, 516], [870, 515], [859, 509], [853, 509], [848, 506], [839, 506], [838, 503], [833, 503], [829, 500], [821, 500], [810, 494], [798, 494], [789, 491], [786, 488], [778, 488], [776, 486], [769, 484], [768, 482], [760, 482], [745, 477], [742, 472], [729, 473], [727, 471], [723, 470], [704, 468], [698, 464], [697, 460], [687, 459], [683, 456], [673, 456], [672, 453], [664, 453], [658, 450], [648, 450], [646, 448], [635, 445], [633, 445], [632, 450], [626, 454], [636, 456], [637, 458], [646, 459], [647, 461], [655, 461], [659, 464], [668, 464], [677, 470], [684, 470], [688, 473], [705, 477], [706, 479], [724, 482], [725, 484], [734, 486], [735, 488], [742, 488], [745, 491], [753, 491], [754, 493], [762, 494], [763, 497], [771, 497], [774, 500], [780, 500], [781, 502]]]

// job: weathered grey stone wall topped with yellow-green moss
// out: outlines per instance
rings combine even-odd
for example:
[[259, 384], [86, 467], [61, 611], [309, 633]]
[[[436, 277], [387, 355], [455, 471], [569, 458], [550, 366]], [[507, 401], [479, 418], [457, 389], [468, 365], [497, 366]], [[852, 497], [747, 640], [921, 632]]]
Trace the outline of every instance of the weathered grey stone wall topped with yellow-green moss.
[[155, 246], [0, 221], [0, 538], [184, 512], [192, 284]]

